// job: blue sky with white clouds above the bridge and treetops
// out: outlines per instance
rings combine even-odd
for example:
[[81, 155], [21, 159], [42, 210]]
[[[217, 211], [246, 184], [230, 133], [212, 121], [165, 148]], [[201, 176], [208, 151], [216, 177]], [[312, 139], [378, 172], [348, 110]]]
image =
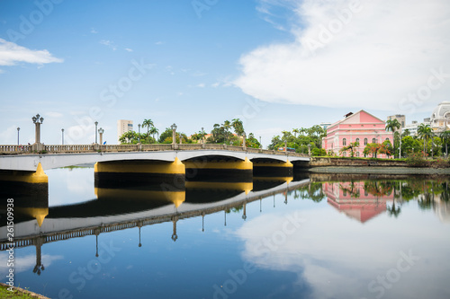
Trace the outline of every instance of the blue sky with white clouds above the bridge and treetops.
[[348, 111], [421, 120], [450, 100], [449, 15], [445, 0], [3, 0], [0, 144], [17, 127], [33, 143], [36, 113], [48, 145], [61, 128], [92, 143], [94, 120], [114, 144], [118, 119], [192, 134], [239, 118], [265, 146]]

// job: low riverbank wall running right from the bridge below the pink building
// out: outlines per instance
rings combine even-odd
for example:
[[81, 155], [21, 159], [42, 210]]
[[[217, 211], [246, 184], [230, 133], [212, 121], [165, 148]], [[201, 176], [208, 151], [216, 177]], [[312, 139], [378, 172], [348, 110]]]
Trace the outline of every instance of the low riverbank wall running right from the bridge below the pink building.
[[347, 174], [442, 174], [450, 175], [450, 168], [398, 167], [398, 166], [322, 166], [311, 167], [308, 171], [316, 173], [347, 173]]

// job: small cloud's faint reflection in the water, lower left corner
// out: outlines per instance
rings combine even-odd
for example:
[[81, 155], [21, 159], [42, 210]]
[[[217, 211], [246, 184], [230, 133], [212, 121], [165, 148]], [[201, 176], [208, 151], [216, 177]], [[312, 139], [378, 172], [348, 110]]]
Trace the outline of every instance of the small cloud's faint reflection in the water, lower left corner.
[[[49, 254], [42, 255], [42, 265], [48, 268], [54, 260], [64, 259], [61, 255], [51, 256]], [[0, 252], [0, 260], [8, 260], [8, 252]], [[14, 251], [14, 275], [24, 271], [32, 270], [36, 265], [36, 256], [33, 254], [24, 257], [18, 257], [17, 251]], [[9, 271], [9, 267], [5, 262], [0, 263], [0, 275], [4, 277]]]

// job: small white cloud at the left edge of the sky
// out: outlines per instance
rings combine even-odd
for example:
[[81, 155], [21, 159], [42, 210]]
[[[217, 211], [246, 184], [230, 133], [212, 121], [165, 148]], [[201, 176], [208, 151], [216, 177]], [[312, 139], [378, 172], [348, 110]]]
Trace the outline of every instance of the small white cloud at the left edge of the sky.
[[31, 50], [14, 42], [0, 39], [0, 66], [14, 66], [19, 62], [43, 65], [63, 61], [63, 59], [53, 57], [46, 49]]

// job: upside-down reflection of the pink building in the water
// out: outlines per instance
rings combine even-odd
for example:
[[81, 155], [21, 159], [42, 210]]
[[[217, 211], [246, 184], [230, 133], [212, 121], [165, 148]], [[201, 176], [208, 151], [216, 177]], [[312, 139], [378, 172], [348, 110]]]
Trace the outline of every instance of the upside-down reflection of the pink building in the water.
[[364, 181], [325, 182], [323, 192], [331, 206], [361, 223], [386, 211], [386, 200], [393, 200], [394, 193], [377, 196], [365, 189]]

